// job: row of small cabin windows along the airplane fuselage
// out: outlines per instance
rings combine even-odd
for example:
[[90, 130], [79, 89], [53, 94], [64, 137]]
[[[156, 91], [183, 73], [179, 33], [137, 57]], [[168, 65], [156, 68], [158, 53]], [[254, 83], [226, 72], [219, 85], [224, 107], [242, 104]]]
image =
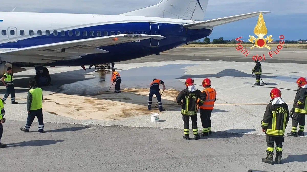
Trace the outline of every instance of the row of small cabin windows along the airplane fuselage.
[[[50, 35], [50, 31], [49, 30], [46, 30], [45, 31], [46, 33], [46, 36], [49, 36]], [[128, 32], [123, 32], [123, 34], [127, 34]], [[130, 32], [130, 34], [133, 34], [134, 32]], [[6, 36], [6, 30], [2, 30], [1, 31], [1, 34], [2, 36]], [[120, 35], [122, 34], [120, 31], [117, 32], [117, 35]], [[140, 34], [140, 32], [136, 32], [136, 34]], [[142, 32], [142, 34], [146, 34], [146, 32]], [[15, 30], [10, 30], [10, 35], [14, 36], [15, 35]], [[24, 36], [25, 35], [25, 31], [24, 30], [20, 30], [19, 31], [19, 35], [20, 36]], [[33, 30], [29, 30], [29, 35], [30, 36], [33, 36], [34, 35], [34, 31]], [[38, 36], [41, 36], [42, 35], [42, 31], [41, 30], [38, 30], [37, 31], [37, 35]], [[53, 35], [54, 36], [57, 36], [58, 35], [58, 31], [53, 31]], [[65, 36], [65, 31], [61, 31], [60, 32], [60, 35], [61, 36]], [[82, 35], [83, 36], [87, 36], [87, 31], [83, 31], [82, 32]], [[110, 32], [110, 35], [115, 35], [115, 32], [114, 31], [111, 31]], [[73, 36], [73, 32], [72, 31], [68, 31], [68, 36]], [[76, 31], [75, 32], [75, 36], [80, 36], [80, 31]], [[90, 36], [95, 36], [95, 32], [94, 31], [90, 31]], [[100, 31], [97, 31], [96, 32], [96, 36], [101, 36], [101, 32]], [[103, 36], [108, 36], [108, 32], [107, 31], [104, 31], [103, 32]]]

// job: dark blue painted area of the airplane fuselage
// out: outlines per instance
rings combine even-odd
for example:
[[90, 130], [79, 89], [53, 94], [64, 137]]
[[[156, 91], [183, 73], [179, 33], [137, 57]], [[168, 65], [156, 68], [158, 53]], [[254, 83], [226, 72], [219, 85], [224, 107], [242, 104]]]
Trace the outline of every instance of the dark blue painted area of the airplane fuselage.
[[[130, 60], [134, 58], [140, 58], [147, 55], [159, 53], [165, 50], [172, 49], [174, 47], [180, 46], [187, 42], [198, 40], [209, 36], [212, 32], [210, 29], [186, 29], [181, 24], [168, 24], [168, 23], [158, 23], [160, 35], [165, 36], [165, 39], [161, 39], [159, 42], [159, 47], [150, 47], [150, 39], [141, 40], [140, 42], [130, 42], [121, 43], [114, 46], [100, 47], [103, 50], [109, 51], [109, 53], [102, 54], [88, 54], [84, 58], [69, 60], [69, 61], [59, 61], [50, 63], [50, 65], [65, 66], [65, 65], [90, 65], [90, 64], [102, 64], [111, 62], [120, 62], [125, 60]], [[22, 29], [22, 28], [18, 28]], [[80, 31], [80, 36], [75, 36], [76, 31]], [[36, 36], [24, 40], [17, 41], [15, 43], [8, 42], [2, 43], [1, 48], [21, 48], [30, 47], [33, 45], [43, 45], [49, 43], [57, 43], [78, 39], [86, 39], [97, 37], [97, 31], [100, 31], [102, 36], [103, 32], [107, 31], [108, 35], [113, 31], [117, 34], [120, 31], [123, 32], [146, 32], [150, 33], [150, 23], [149, 22], [133, 22], [133, 23], [117, 23], [117, 24], [103, 24], [97, 26], [90, 26], [78, 29], [71, 29], [73, 31], [73, 36], [68, 36], [68, 30], [65, 30], [65, 36], [61, 36], [60, 31], [57, 36], [50, 33], [49, 36], [42, 35]], [[83, 36], [82, 32], [87, 31], [87, 36]], [[94, 31], [95, 36], [90, 36], [90, 31]], [[19, 32], [19, 31], [18, 31]], [[29, 32], [29, 31], [25, 31]], [[20, 65], [18, 65], [20, 66]]]

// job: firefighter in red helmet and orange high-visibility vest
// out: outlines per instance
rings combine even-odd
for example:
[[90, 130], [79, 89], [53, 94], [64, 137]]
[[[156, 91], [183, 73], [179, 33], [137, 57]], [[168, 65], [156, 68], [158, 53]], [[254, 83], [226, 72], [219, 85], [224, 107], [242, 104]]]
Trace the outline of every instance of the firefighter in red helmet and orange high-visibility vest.
[[204, 90], [202, 93], [206, 97], [204, 104], [200, 106], [200, 120], [201, 124], [203, 125], [203, 131], [200, 133], [201, 136], [208, 136], [212, 134], [211, 131], [211, 112], [214, 107], [214, 102], [216, 101], [216, 91], [214, 88], [211, 88], [211, 80], [205, 78], [202, 82]]

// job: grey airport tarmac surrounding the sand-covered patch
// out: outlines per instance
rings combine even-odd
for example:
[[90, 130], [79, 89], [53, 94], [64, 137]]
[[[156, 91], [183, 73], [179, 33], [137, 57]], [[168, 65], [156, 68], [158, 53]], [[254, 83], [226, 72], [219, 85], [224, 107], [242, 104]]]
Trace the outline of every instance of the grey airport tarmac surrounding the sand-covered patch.
[[[257, 51], [251, 54], [268, 52]], [[282, 99], [289, 109], [293, 107], [297, 90], [295, 81], [307, 74], [307, 59], [304, 59], [307, 51], [282, 48], [273, 58], [266, 57], [261, 61], [261, 77], [268, 85], [260, 87], [251, 87], [255, 82], [255, 77], [251, 77], [251, 69], [255, 66], [252, 56], [245, 57], [240, 53], [235, 47], [185, 47], [115, 64], [122, 77], [122, 89], [148, 88], [152, 79], [158, 78], [165, 81], [167, 89], [181, 91], [185, 88], [185, 79], [191, 77], [196, 88], [202, 90], [201, 81], [206, 77], [211, 79], [212, 87], [217, 91], [211, 117], [212, 136], [189, 141], [182, 139], [180, 107], [163, 113], [154, 111], [160, 114], [159, 122], [151, 122], [149, 114], [120, 120], [77, 120], [44, 111], [46, 133], [37, 133], [37, 122], [33, 122], [30, 133], [22, 133], [19, 128], [25, 125], [27, 118], [27, 83], [34, 77], [35, 70], [28, 68], [16, 73], [14, 85], [19, 104], [10, 104], [8, 99], [4, 105], [7, 122], [3, 124], [2, 143], [8, 144], [8, 148], [1, 149], [5, 159], [2, 169], [7, 172], [95, 172], [101, 168], [133, 172], [186, 172], [204, 168], [212, 172], [306, 170], [307, 148], [300, 146], [306, 142], [305, 136], [285, 136], [283, 164], [261, 162], [266, 156], [266, 136], [261, 131], [260, 121], [270, 103], [269, 94], [273, 87], [281, 88]], [[111, 72], [102, 75], [86, 67], [86, 71], [80, 66], [50, 67], [53, 85], [42, 87], [43, 95], [57, 92], [91, 97], [107, 91], [111, 86]], [[3, 96], [5, 87], [0, 88]], [[114, 86], [111, 91], [113, 89]], [[156, 101], [153, 98], [153, 104]], [[162, 104], [163, 101], [162, 96]], [[201, 128], [199, 118], [198, 129]], [[286, 133], [290, 130], [291, 119]]]

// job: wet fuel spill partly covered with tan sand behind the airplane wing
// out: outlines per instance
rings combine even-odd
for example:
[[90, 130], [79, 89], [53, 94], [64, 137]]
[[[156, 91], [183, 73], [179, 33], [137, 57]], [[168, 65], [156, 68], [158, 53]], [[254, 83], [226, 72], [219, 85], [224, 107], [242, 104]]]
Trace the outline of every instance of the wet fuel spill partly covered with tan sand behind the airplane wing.
[[[74, 119], [114, 120], [157, 113], [157, 98], [153, 96], [152, 110], [147, 110], [149, 86], [154, 78], [165, 82], [162, 94], [165, 110], [178, 109], [176, 96], [185, 88], [178, 79], [185, 75], [185, 67], [197, 64], [169, 64], [117, 70], [122, 78], [121, 94], [114, 93], [111, 71], [93, 72], [95, 78], [62, 85], [61, 91], [44, 96], [43, 110]], [[116, 68], [115, 68], [116, 69]], [[110, 86], [110, 91], [108, 92]], [[160, 86], [160, 88], [163, 88]], [[162, 93], [163, 89], [160, 89]]]

